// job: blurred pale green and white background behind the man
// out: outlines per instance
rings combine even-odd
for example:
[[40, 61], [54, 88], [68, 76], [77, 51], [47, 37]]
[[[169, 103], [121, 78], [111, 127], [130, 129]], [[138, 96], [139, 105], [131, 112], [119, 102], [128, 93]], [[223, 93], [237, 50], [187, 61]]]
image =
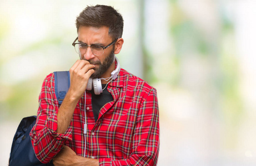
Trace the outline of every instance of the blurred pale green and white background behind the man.
[[0, 0], [0, 165], [91, 4], [123, 15], [121, 67], [158, 91], [158, 165], [256, 164], [255, 0]]

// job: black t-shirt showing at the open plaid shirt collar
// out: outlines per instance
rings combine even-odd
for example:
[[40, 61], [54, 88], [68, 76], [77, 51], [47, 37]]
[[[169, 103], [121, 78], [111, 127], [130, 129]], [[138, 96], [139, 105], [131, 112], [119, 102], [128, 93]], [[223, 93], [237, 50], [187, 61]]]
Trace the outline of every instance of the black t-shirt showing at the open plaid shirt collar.
[[[106, 84], [102, 84], [102, 89]], [[107, 87], [103, 90], [103, 92], [100, 95], [95, 95], [94, 90], [90, 91], [92, 94], [92, 110], [94, 115], [95, 122], [98, 120], [99, 117], [99, 110], [108, 102], [111, 102], [114, 100], [113, 96], [110, 92], [108, 92]]]

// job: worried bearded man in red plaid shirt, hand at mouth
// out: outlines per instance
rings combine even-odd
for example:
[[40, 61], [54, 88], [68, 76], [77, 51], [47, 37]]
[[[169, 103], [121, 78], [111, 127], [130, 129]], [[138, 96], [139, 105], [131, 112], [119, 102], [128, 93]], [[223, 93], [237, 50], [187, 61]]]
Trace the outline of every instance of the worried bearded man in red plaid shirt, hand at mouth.
[[[76, 25], [73, 45], [81, 59], [69, 70], [71, 85], [62, 105], [58, 107], [54, 95], [53, 74], [46, 77], [39, 95], [31, 131], [37, 158], [43, 163], [53, 159], [54, 165], [156, 165], [157, 92], [118, 67], [122, 15], [109, 6], [88, 6]], [[101, 80], [102, 87], [90, 79]], [[86, 90], [88, 84], [94, 84], [94, 90]], [[101, 88], [102, 93], [96, 92]]]

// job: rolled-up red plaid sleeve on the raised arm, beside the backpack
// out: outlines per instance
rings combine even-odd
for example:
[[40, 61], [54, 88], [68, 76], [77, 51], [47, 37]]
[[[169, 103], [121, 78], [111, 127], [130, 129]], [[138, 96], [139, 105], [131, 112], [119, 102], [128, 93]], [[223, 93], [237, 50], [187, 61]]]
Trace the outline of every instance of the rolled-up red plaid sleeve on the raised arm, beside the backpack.
[[65, 141], [72, 140], [72, 123], [64, 134], [56, 132], [58, 100], [53, 87], [54, 76], [50, 74], [43, 81], [37, 122], [30, 133], [34, 152], [42, 163], [48, 163], [61, 151]]

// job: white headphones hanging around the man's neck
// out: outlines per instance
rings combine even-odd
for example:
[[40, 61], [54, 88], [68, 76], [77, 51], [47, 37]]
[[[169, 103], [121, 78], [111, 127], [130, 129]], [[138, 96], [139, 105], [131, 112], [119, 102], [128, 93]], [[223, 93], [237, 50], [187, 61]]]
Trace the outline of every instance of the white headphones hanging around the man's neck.
[[[119, 60], [117, 59], [116, 56], [115, 56], [115, 59], [117, 61], [117, 68], [116, 68], [116, 70], [111, 72], [111, 77], [107, 78], [108, 80], [110, 80], [112, 78], [111, 81], [115, 80], [117, 78], [117, 75], [118, 75], [119, 71], [121, 70]], [[89, 78], [86, 89], [87, 90], [92, 90], [92, 88], [93, 88], [94, 94], [96, 94], [96, 95], [101, 94], [102, 91], [103, 91], [102, 90], [102, 85], [101, 85], [101, 80], [102, 79], [98, 79], [98, 78], [96, 78], [96, 79]], [[111, 81], [109, 81], [109, 82], [111, 82]]]

